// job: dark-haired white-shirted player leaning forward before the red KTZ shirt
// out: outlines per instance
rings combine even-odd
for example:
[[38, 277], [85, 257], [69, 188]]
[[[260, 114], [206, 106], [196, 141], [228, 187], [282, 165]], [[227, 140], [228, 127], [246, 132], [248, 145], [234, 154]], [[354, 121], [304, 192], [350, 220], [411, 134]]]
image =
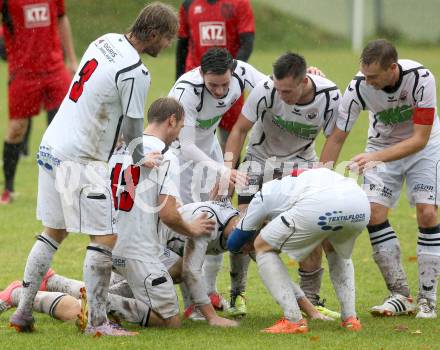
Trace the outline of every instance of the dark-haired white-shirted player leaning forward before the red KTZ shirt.
[[[215, 130], [243, 91], [250, 91], [264, 78], [250, 64], [234, 60], [226, 49], [213, 48], [203, 55], [200, 67], [183, 74], [174, 84], [169, 96], [178, 99], [185, 109], [185, 125], [179, 135], [180, 194], [184, 204], [208, 200], [219, 174], [225, 178], [230, 175], [231, 182], [244, 183], [240, 173], [224, 165]], [[215, 282], [222, 258], [209, 256], [204, 265], [208, 290], [220, 308], [224, 307], [220, 302], [223, 299]]]

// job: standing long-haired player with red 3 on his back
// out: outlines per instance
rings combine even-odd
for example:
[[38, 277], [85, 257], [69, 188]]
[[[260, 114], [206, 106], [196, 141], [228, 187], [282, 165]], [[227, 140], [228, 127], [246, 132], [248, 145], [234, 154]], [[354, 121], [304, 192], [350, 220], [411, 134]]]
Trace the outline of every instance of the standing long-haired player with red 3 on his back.
[[[18, 331], [33, 330], [32, 303], [53, 254], [68, 232], [81, 232], [91, 239], [84, 261], [90, 305], [86, 331], [131, 335], [112, 327], [105, 312], [117, 237], [107, 161], [121, 130], [127, 143], [142, 135], [150, 74], [139, 55], [157, 56], [170, 45], [177, 28], [173, 9], [153, 3], [140, 12], [126, 35], [104, 35], [85, 52], [37, 156], [37, 216], [44, 231], [29, 254], [23, 298], [10, 319]], [[134, 161], [154, 165], [155, 159], [143, 157], [138, 145]]]

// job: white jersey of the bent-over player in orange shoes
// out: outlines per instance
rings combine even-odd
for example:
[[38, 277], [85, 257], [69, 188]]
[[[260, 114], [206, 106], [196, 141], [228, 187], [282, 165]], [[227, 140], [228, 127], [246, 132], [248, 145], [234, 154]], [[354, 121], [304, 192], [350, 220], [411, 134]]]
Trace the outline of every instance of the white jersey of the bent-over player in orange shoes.
[[257, 231], [264, 221], [274, 219], [308, 197], [349, 186], [359, 188], [354, 180], [326, 168], [310, 169], [298, 177], [286, 176], [266, 182], [255, 194], [237, 227]]

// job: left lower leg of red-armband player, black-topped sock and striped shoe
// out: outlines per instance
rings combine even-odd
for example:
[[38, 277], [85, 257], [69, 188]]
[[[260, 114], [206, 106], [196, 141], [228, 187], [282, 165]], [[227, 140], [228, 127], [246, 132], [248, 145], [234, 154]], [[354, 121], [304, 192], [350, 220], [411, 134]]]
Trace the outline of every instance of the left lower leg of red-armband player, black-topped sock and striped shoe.
[[408, 281], [400, 261], [400, 244], [388, 220], [378, 225], [368, 225], [373, 248], [373, 258], [391, 295], [382, 305], [373, 306], [375, 316], [408, 315], [416, 310], [410, 296]]

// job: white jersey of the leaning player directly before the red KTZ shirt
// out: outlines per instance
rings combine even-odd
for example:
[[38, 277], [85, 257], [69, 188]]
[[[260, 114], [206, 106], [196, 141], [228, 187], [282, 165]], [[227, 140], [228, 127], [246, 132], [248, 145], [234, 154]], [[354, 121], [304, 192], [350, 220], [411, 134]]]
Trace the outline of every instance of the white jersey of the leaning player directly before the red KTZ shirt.
[[240, 98], [244, 90], [252, 89], [266, 75], [250, 64], [235, 61], [228, 93], [215, 98], [206, 89], [200, 67], [183, 74], [174, 84], [169, 96], [177, 99], [185, 109], [185, 124], [181, 131], [195, 128], [194, 144], [207, 155], [213, 153], [214, 132], [225, 112]]

